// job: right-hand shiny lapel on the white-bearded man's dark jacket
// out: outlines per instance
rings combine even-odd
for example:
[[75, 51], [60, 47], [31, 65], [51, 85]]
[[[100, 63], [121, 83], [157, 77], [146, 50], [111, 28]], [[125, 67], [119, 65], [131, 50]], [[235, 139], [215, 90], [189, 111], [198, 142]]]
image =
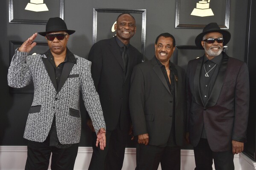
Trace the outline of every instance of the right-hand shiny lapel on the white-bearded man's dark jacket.
[[221, 87], [223, 85], [224, 78], [225, 78], [225, 75], [226, 75], [227, 62], [228, 62], [228, 56], [223, 53], [223, 59], [222, 59], [222, 62], [221, 62], [221, 66], [219, 68], [217, 78], [216, 78], [216, 80], [214, 82], [214, 85], [212, 87], [212, 92], [209, 96], [208, 101], [206, 102], [205, 107], [214, 106], [218, 101], [219, 95], [221, 93]]

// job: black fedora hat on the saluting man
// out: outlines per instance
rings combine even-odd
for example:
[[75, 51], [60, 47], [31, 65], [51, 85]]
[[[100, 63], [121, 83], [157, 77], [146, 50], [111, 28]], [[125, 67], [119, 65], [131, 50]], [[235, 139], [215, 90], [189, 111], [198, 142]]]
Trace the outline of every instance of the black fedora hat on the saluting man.
[[65, 31], [68, 32], [69, 35], [73, 34], [74, 30], [68, 30], [67, 25], [64, 20], [60, 17], [49, 18], [47, 21], [45, 32], [38, 32], [38, 34], [45, 36], [48, 32], [57, 32], [57, 31]]

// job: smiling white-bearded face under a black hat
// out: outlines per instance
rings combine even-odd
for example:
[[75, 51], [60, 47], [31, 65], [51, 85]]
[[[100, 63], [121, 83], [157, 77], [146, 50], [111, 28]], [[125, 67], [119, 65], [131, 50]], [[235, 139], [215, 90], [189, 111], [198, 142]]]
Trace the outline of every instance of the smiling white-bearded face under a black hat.
[[[222, 34], [219, 32], [210, 32], [206, 34], [203, 39], [208, 39], [208, 38], [222, 38]], [[221, 54], [222, 49], [223, 49], [223, 43], [218, 43], [217, 41], [214, 41], [214, 43], [206, 43], [205, 41], [201, 41], [201, 44], [204, 48], [204, 51], [206, 53], [206, 57], [209, 58], [210, 60], [214, 58], [215, 56], [218, 56]]]

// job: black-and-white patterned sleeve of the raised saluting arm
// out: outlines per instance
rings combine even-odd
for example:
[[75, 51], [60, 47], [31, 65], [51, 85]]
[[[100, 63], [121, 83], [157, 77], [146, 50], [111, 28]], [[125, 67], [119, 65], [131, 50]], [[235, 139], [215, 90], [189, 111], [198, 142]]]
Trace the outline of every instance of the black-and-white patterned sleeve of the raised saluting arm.
[[32, 83], [32, 76], [29, 74], [29, 63], [28, 53], [19, 52], [16, 49], [7, 75], [10, 87], [22, 88]]

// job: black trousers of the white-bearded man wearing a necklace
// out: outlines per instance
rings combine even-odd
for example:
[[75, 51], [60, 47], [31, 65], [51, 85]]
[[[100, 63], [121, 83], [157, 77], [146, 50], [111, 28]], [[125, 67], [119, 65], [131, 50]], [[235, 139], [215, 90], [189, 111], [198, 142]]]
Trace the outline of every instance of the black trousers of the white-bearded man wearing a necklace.
[[195, 170], [212, 170], [212, 159], [215, 170], [234, 170], [234, 155], [232, 150], [225, 152], [213, 152], [207, 139], [201, 138], [194, 147]]

